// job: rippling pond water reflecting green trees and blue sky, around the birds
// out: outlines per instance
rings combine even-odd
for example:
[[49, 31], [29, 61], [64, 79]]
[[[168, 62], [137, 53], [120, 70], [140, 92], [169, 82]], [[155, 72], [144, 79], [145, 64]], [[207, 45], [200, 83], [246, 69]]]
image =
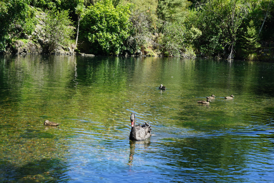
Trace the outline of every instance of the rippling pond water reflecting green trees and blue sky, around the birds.
[[[273, 63], [0, 60], [0, 182], [274, 182]], [[128, 140], [132, 112], [152, 137]]]

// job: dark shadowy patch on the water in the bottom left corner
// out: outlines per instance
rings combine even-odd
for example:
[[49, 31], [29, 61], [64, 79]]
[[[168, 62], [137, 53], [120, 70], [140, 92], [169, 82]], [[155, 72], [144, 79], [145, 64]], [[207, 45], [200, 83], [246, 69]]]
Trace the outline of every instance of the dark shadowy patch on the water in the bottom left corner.
[[68, 182], [67, 171], [67, 163], [58, 159], [33, 160], [22, 166], [0, 160], [0, 182]]

